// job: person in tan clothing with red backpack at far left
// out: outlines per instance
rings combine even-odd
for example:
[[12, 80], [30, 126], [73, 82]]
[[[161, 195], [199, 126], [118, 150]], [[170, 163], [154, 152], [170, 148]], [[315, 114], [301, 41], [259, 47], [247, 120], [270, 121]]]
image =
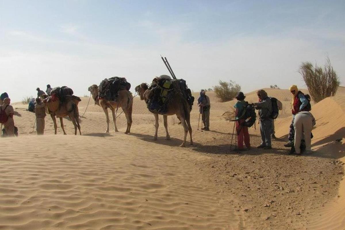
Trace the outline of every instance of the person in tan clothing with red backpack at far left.
[[[14, 136], [13, 107], [10, 105], [11, 99], [5, 98], [0, 106], [0, 119], [4, 126], [7, 137]], [[1, 130], [2, 131], [2, 130]]]

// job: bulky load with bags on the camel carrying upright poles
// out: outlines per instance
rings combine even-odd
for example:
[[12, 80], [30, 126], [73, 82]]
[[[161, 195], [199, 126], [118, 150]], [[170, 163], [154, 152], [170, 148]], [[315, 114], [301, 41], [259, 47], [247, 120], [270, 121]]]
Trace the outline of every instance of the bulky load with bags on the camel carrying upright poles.
[[167, 113], [167, 107], [174, 96], [174, 92], [181, 93], [183, 98], [187, 100], [190, 110], [192, 109], [194, 97], [183, 79], [171, 79], [169, 76], [162, 75], [153, 79], [149, 91], [146, 103], [147, 108], [152, 113]]

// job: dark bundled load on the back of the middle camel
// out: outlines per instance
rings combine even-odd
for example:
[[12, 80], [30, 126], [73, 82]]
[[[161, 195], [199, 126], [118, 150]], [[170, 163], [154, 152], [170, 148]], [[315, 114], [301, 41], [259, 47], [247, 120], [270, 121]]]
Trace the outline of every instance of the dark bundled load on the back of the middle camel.
[[126, 78], [112, 77], [101, 81], [98, 87], [98, 97], [109, 101], [117, 101], [119, 90], [130, 89], [130, 83]]

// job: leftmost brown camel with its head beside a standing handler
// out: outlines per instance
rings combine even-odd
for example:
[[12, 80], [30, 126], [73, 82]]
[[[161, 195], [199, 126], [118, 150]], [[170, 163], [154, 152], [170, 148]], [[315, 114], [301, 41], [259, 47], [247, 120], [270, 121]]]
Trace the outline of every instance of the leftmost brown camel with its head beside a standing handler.
[[78, 110], [78, 103], [80, 99], [78, 97], [68, 97], [66, 96], [65, 101], [60, 104], [59, 98], [53, 101], [52, 99], [47, 100], [48, 95], [44, 94], [41, 96], [44, 99], [47, 107], [47, 113], [50, 114], [51, 119], [54, 122], [54, 129], [55, 134], [57, 132], [58, 125], [56, 123], [56, 117], [60, 118], [60, 124], [63, 131], [63, 135], [66, 135], [65, 128], [63, 127], [63, 118], [69, 117], [74, 125], [74, 134], [77, 135], [77, 128], [79, 130], [79, 134], [81, 135], [80, 131], [80, 124], [79, 124], [79, 110]]

